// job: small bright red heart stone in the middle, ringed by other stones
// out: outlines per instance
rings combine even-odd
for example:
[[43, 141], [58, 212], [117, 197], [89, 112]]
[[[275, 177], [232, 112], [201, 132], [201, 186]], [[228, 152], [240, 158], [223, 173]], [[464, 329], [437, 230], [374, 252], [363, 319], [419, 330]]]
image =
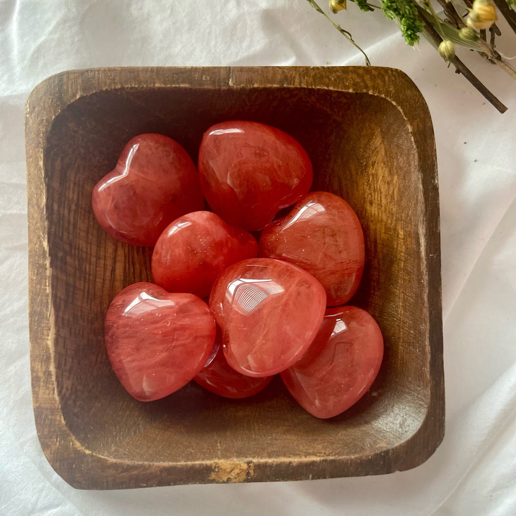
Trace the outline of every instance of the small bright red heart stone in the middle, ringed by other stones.
[[257, 254], [258, 244], [247, 231], [232, 228], [212, 212], [189, 213], [158, 238], [152, 277], [169, 292], [205, 298], [222, 270]]

